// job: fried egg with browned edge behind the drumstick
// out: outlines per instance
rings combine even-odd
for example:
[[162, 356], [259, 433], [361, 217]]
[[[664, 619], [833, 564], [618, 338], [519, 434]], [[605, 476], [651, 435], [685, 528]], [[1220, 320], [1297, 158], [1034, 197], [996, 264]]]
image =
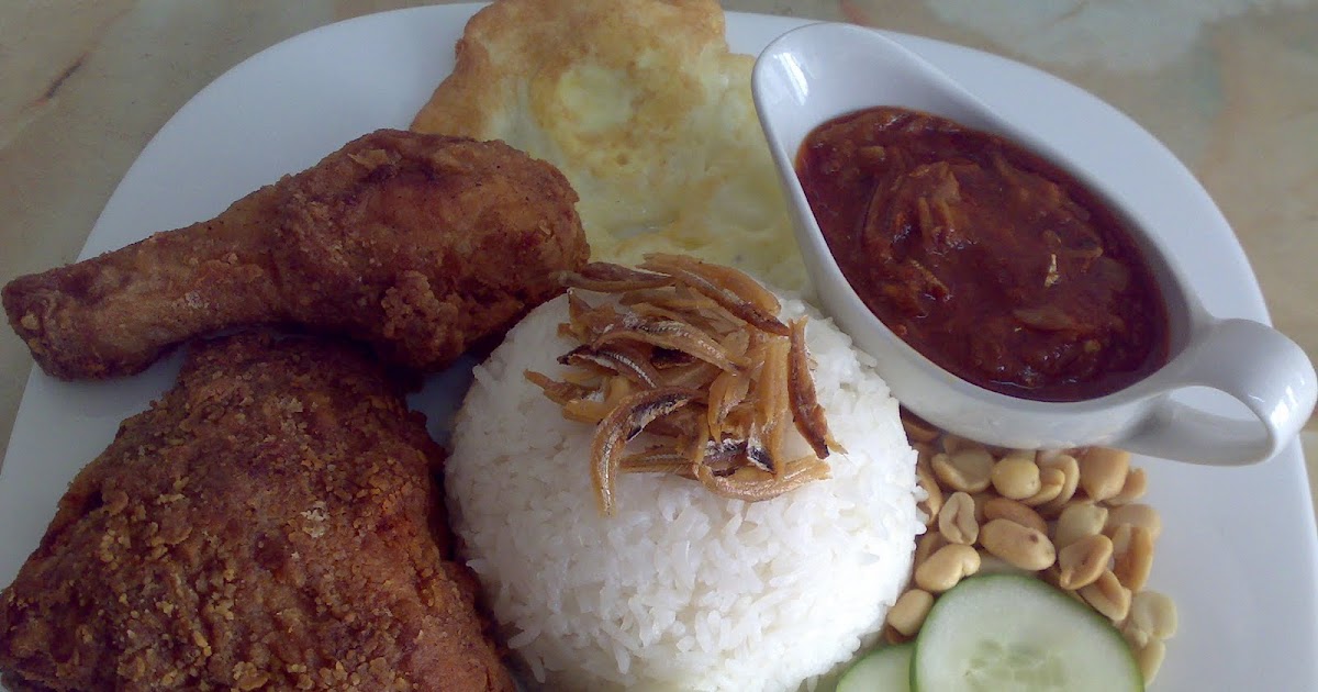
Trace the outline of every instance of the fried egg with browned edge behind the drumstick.
[[558, 166], [594, 260], [650, 252], [801, 289], [805, 269], [713, 0], [500, 0], [413, 129], [503, 140]]

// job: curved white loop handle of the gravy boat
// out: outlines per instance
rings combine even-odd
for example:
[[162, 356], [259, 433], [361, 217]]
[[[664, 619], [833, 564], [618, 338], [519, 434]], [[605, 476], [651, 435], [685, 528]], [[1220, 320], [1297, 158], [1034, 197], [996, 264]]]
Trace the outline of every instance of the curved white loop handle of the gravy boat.
[[1162, 397], [1116, 444], [1195, 464], [1263, 461], [1289, 444], [1318, 397], [1314, 366], [1294, 341], [1247, 319], [1210, 319], [1157, 376], [1168, 390], [1206, 386], [1243, 403], [1255, 420], [1211, 414]]

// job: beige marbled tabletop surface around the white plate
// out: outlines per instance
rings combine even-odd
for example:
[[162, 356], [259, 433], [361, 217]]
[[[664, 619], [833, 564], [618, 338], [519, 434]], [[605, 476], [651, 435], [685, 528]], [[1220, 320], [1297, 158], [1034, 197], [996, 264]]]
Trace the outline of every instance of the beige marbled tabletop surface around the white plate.
[[[0, 281], [71, 261], [152, 134], [223, 71], [303, 30], [415, 4], [0, 4]], [[1236, 229], [1275, 323], [1318, 357], [1314, 0], [729, 0], [725, 7], [954, 41], [1098, 94], [1203, 182]], [[9, 436], [29, 369], [24, 345], [0, 331], [0, 440]]]

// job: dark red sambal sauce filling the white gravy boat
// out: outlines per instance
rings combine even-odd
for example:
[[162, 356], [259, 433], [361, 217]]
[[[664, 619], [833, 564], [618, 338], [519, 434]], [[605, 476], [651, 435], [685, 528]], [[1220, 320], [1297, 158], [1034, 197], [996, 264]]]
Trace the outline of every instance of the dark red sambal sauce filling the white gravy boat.
[[855, 293], [958, 377], [1081, 401], [1166, 362], [1166, 304], [1135, 240], [1041, 157], [879, 107], [816, 128], [796, 170]]

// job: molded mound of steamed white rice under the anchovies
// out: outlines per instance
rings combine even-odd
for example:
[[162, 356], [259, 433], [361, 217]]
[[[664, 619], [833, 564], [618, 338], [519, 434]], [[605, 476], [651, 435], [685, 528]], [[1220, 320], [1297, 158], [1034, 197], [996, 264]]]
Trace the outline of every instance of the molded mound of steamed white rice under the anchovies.
[[[783, 315], [805, 310], [786, 301]], [[812, 315], [818, 399], [847, 449], [830, 478], [743, 502], [623, 475], [602, 517], [594, 427], [522, 374], [561, 376], [561, 322], [564, 298], [476, 368], [445, 471], [468, 564], [530, 675], [551, 689], [795, 689], [873, 639], [923, 531], [916, 452], [873, 360]]]

